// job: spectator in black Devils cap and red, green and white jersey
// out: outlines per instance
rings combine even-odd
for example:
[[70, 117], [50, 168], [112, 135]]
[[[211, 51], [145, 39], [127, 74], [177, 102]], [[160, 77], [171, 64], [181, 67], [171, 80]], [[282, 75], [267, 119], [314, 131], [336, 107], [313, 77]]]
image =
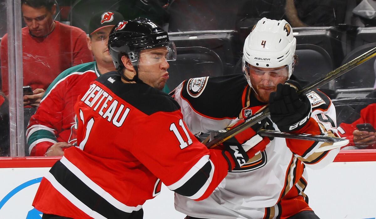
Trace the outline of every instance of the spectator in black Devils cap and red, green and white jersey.
[[26, 131], [31, 156], [62, 156], [64, 148], [76, 142], [73, 106], [92, 81], [115, 71], [107, 41], [111, 29], [123, 19], [115, 11], [101, 11], [91, 17], [87, 45], [96, 62], [68, 68], [47, 88]]

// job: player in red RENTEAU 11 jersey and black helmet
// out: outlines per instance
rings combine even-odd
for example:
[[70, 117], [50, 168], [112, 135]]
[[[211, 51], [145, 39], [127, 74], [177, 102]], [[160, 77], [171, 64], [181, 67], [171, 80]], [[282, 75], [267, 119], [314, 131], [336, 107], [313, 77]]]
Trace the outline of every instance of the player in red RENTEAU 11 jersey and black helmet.
[[[199, 201], [269, 142], [256, 127], [207, 149], [188, 130], [180, 106], [161, 89], [176, 57], [167, 32], [150, 20], [121, 21], [109, 36], [117, 71], [79, 97], [79, 147], [42, 179], [33, 206], [42, 218], [141, 219], [142, 205], [163, 182]], [[231, 140], [231, 139], [230, 139]]]

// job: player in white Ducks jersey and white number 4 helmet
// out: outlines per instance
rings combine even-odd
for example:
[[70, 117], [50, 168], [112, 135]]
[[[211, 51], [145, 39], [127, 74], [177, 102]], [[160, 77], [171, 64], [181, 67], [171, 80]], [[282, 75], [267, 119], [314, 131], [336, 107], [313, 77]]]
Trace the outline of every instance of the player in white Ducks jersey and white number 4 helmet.
[[[297, 94], [305, 84], [292, 76], [295, 48], [293, 30], [285, 20], [258, 21], [244, 43], [246, 80], [241, 74], [194, 78], [173, 91], [190, 130], [223, 130], [269, 103], [275, 130], [338, 136], [331, 100], [318, 90]], [[287, 80], [296, 88], [285, 84]], [[209, 198], [194, 202], [176, 194], [176, 210], [186, 219], [317, 219], [304, 193], [306, 166], [331, 163], [339, 148], [317, 151], [329, 145], [274, 138], [246, 165], [229, 172]]]

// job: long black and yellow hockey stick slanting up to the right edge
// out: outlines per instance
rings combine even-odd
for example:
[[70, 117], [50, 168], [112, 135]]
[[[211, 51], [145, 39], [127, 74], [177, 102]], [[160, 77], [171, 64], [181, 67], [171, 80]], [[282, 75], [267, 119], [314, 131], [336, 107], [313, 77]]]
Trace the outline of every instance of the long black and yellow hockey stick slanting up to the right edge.
[[[362, 63], [371, 59], [374, 56], [376, 56], [376, 47], [356, 57], [350, 62], [347, 62], [346, 64], [327, 73], [324, 77], [321, 77], [320, 79], [317, 79], [314, 82], [310, 83], [309, 85], [305, 86], [302, 90], [298, 92], [298, 94], [306, 94], [312, 89], [316, 89], [322, 85], [325, 85], [331, 80], [345, 74], [346, 72], [350, 71], [351, 69], [355, 68], [358, 65], [361, 65]], [[214, 140], [208, 142], [206, 144], [206, 147], [214, 148], [215, 146], [219, 145], [225, 140], [230, 139], [236, 134], [246, 130], [248, 127], [256, 124], [256, 122], [261, 121], [262, 119], [266, 118], [269, 114], [270, 114], [269, 108], [265, 108], [261, 112], [256, 113], [254, 116], [248, 118], [246, 121], [243, 122], [243, 124], [238, 125], [237, 127], [227, 131], [226, 133], [218, 135]]]

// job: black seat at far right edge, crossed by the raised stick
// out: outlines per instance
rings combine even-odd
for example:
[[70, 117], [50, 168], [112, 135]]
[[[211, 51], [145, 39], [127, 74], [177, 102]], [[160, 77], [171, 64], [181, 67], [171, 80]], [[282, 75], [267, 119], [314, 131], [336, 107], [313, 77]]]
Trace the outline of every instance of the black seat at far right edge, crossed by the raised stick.
[[[374, 47], [376, 47], [376, 42], [357, 47], [355, 50], [347, 54], [341, 65], [355, 59]], [[340, 80], [338, 80], [337, 88], [373, 88], [375, 83], [374, 62], [375, 57], [350, 70], [349, 72], [346, 72], [340, 77]]]

